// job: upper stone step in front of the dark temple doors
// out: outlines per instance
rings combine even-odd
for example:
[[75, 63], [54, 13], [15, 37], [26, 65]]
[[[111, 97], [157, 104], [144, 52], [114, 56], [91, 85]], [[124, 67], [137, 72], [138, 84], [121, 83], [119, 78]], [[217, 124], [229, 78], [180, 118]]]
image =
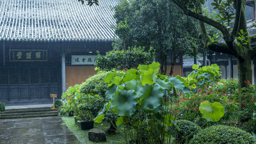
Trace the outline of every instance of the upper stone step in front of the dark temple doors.
[[22, 109], [6, 109], [1, 111], [0, 115], [3, 113], [27, 113], [27, 112], [39, 112], [39, 111], [52, 111], [50, 107], [45, 108], [22, 108]]

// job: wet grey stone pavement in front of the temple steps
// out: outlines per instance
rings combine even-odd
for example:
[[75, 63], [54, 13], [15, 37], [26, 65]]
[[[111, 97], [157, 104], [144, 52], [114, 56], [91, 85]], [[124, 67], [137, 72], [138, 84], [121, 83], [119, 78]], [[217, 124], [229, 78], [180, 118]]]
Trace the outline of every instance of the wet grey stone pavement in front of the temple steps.
[[0, 144], [79, 143], [61, 117], [0, 120]]

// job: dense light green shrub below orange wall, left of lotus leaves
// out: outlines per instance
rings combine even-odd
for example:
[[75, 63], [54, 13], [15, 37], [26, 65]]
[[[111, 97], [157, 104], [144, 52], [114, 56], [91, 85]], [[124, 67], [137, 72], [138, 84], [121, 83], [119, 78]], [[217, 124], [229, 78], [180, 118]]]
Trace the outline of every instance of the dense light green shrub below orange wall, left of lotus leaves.
[[105, 97], [107, 90], [107, 84], [104, 82], [104, 77], [107, 76], [109, 72], [101, 71], [98, 74], [95, 74], [92, 77], [86, 79], [84, 83], [81, 84], [80, 91], [86, 95], [100, 95]]

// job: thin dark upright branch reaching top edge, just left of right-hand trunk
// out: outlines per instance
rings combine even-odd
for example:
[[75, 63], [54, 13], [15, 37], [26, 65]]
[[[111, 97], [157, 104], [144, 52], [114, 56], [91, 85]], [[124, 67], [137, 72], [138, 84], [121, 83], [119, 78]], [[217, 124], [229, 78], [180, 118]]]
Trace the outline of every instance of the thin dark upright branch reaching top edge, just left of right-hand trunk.
[[241, 12], [242, 12], [242, 1], [234, 0], [234, 3], [236, 4], [236, 20], [235, 20], [234, 28], [232, 31], [233, 38], [235, 38], [237, 35], [237, 31], [240, 25]]

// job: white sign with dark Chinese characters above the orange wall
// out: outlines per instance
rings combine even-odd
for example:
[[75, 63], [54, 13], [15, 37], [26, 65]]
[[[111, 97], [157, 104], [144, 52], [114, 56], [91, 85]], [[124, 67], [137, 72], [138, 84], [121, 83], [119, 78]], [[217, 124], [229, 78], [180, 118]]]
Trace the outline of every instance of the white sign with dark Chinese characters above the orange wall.
[[71, 65], [95, 65], [97, 55], [72, 55]]

